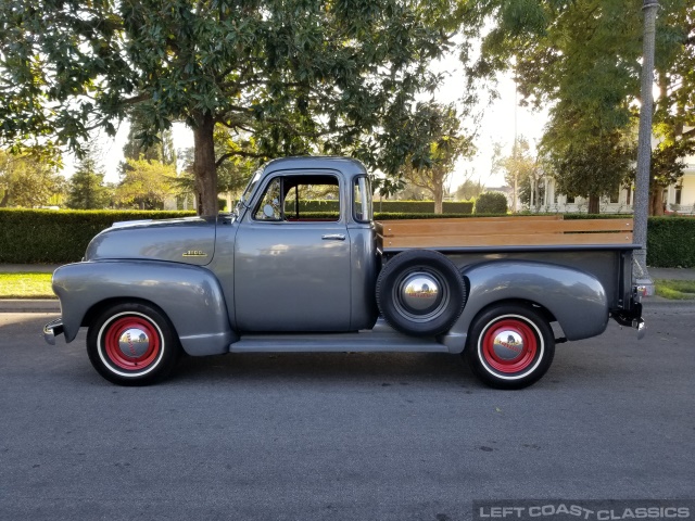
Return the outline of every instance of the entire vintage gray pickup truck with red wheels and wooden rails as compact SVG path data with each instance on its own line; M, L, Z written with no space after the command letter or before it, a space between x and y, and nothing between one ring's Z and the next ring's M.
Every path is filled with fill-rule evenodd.
M439 352L520 389L609 317L643 333L639 246L609 220L375 223L359 162L276 160L231 214L103 230L53 274L62 317L43 333L88 328L91 364L123 385L161 380L181 351Z

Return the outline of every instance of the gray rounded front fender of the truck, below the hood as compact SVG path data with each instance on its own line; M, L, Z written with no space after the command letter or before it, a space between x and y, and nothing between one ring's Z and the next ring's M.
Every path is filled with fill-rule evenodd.
M151 260L97 260L62 266L53 274L65 341L75 340L88 312L110 300L149 301L169 318L190 355L227 353L238 340L225 298L207 269Z

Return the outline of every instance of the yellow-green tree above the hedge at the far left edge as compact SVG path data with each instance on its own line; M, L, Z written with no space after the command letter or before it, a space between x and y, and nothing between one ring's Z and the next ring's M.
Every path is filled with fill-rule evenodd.
M34 207L64 190L64 178L56 171L58 158L13 154L0 150L0 207Z

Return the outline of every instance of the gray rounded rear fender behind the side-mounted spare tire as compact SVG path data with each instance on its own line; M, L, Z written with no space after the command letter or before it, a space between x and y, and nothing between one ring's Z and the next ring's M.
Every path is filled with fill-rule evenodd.
M464 313L446 334L452 351L465 345L476 315L502 301L527 301L555 316L567 340L581 340L603 333L608 325L606 290L590 274L549 263L491 260L467 266L469 292Z

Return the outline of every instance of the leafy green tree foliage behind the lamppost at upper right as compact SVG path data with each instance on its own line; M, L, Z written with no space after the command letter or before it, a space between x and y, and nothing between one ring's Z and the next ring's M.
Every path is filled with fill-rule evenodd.
M695 7L686 0L660 3L665 15L659 16L656 33L656 67L661 97L655 123L671 119L677 130L679 122L682 126L693 114ZM475 21L471 27L477 25L480 33L485 23L492 25L480 58L469 62L470 81L513 71L522 103L554 105L546 145L559 144L569 153L567 163L577 164L581 148L616 158L622 148L610 150L595 140L605 137L614 145L623 143L626 137L634 141L631 129L636 126L634 102L640 99L642 55L640 8L641 2L624 0L468 2L467 15ZM557 153L555 160L559 164ZM677 155L670 154L670 161L677 161ZM571 185L597 181L601 187L583 191L601 193L606 185L620 182L621 168L607 169L603 177L615 177L599 179L599 166L596 162L596 175L589 177L585 168L576 169L581 180ZM653 196L660 198L655 190L659 190L658 181ZM597 208L596 196L590 195L590 205Z

